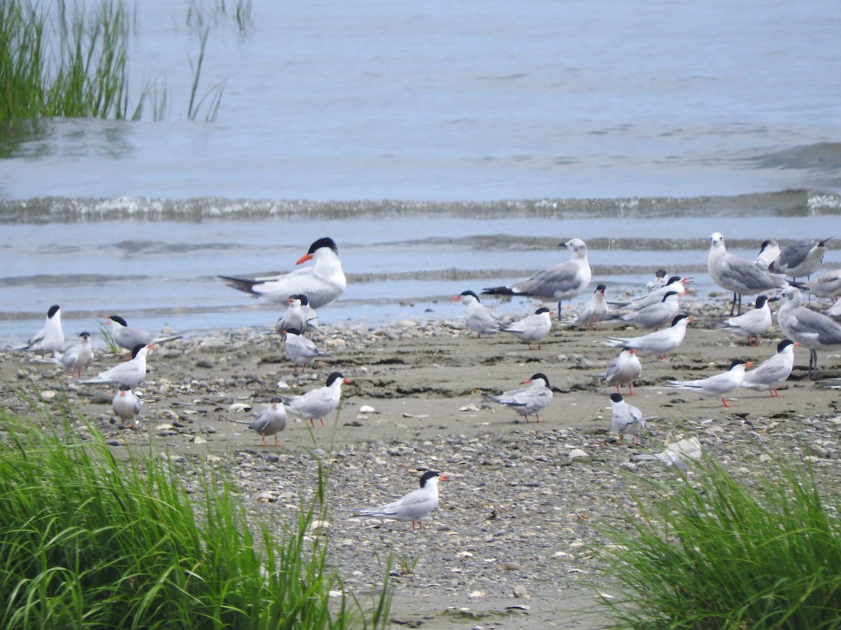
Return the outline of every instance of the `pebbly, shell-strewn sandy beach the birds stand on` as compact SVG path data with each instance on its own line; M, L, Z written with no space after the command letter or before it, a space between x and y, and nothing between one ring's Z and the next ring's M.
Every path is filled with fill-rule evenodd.
M697 299L697 298L696 298ZM136 388L144 408L140 428L114 423L114 391L82 385L54 365L3 351L3 405L45 422L19 391L38 392L39 406L57 410L66 399L91 419L114 454L130 449L173 461L204 460L226 466L242 497L273 522L294 514L299 499L315 491L315 457L330 463L333 558L346 590L373 599L392 554L395 589L392 619L408 627L605 627L597 598L595 566L587 545L599 543L597 523L635 513L635 480L674 475L646 461L670 441L697 437L706 454L735 470L764 454L808 461L817 475L838 484L838 390L807 376L808 350L796 349L796 368L780 398L738 390L731 408L715 397L663 386L726 370L734 359L759 362L775 352L775 326L759 348L715 329L723 296L703 297L715 307L689 302L696 314L685 342L663 361L643 358L637 396L627 397L647 416L642 444L619 444L609 429L609 395L600 383L617 350L603 340L615 331L555 323L542 350L499 333L476 339L463 320L407 319L382 328L325 326L316 344L332 355L303 376L293 375L278 335L265 330L224 331L201 339L161 344L149 355L147 380ZM329 311L325 311L327 315ZM841 376L838 353L820 352L821 377ZM99 352L86 375L115 365ZM295 421L280 445L263 447L246 425L250 411L276 395L294 395L324 384L332 371L352 381L326 427ZM553 403L540 423L498 404L482 392L515 388L533 374L547 375ZM373 411L362 412L362 407ZM580 449L584 456L571 458ZM410 523L350 517L353 507L373 507L413 490L421 470L446 472L441 501L412 531ZM188 476L185 484L193 483ZM594 582L594 580L596 580Z

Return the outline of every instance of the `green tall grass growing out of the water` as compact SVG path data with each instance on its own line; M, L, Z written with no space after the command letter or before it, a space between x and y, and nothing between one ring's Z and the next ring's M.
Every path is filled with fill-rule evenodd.
M0 3L0 121L128 118L130 20L121 0Z

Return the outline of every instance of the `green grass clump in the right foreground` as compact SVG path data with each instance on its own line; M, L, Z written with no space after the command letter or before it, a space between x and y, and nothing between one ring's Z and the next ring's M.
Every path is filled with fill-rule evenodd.
M711 461L696 479L651 481L642 517L606 525L595 554L620 586L618 627L841 627L838 494L799 463L738 480Z

